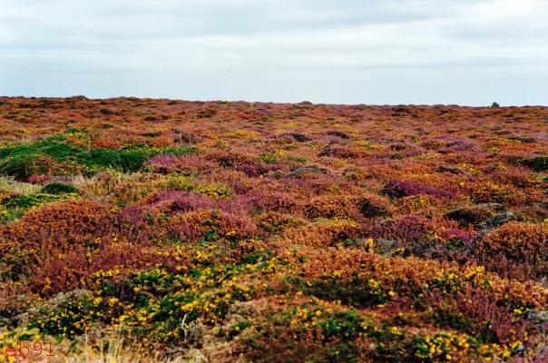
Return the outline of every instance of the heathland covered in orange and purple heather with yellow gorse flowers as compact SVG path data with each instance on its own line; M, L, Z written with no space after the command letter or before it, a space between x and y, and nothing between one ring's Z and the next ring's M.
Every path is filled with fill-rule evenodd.
M0 98L0 343L543 361L547 129L545 107Z

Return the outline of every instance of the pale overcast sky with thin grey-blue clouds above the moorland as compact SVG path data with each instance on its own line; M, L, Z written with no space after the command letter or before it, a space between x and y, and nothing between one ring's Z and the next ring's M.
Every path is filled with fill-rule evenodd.
M548 0L0 0L0 95L548 105Z

